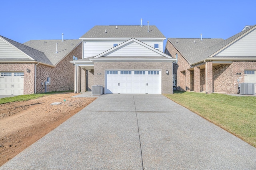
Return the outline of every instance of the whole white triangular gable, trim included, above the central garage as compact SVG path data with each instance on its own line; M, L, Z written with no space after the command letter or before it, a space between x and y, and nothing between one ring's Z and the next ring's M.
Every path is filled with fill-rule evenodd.
M142 43L135 38L132 38L124 43L113 47L104 53L97 55L94 58L99 57L166 57L172 58L149 45Z

